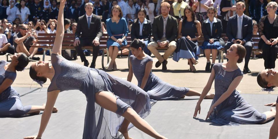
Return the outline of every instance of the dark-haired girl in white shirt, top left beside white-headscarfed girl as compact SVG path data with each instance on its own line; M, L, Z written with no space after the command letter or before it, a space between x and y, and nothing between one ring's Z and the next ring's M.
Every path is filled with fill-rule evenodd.
M25 1L20 0L18 9L17 9L17 16L19 17L21 23L28 23L28 17L30 15L30 10L25 6Z

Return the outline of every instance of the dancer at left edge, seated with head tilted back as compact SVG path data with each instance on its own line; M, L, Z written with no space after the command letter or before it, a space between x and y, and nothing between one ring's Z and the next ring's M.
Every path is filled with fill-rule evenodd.
M45 105L23 107L19 94L11 87L17 77L16 71L22 71L28 65L28 56L24 53L15 53L11 59L11 63L0 61L0 117L39 114L40 111L44 110ZM52 112L57 111L55 107L52 107Z

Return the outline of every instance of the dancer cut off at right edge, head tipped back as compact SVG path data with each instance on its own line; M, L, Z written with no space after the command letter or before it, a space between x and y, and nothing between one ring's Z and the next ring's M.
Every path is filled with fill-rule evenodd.
M257 76L258 84L264 89L273 89L278 86L278 73L275 69L265 69L259 72ZM278 110L278 98L275 103L266 104L265 106L276 106ZM270 128L269 139L277 139L278 137L278 113L276 113L274 122Z

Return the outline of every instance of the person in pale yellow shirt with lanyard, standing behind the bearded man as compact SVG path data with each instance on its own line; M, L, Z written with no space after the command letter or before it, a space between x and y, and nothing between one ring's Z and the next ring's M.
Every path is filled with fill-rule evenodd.
M184 8L188 6L188 4L183 0L178 0L173 3L173 11L175 18L178 19L178 22L183 19L184 16Z

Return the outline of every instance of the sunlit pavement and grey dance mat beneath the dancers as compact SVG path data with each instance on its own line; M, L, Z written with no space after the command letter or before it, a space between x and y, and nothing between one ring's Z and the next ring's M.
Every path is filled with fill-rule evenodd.
M92 56L88 56L87 59L91 61ZM5 57L0 57L0 60L5 60ZM50 56L47 56L45 61L49 60ZM210 75L209 72L204 71L206 64L204 57L200 57L198 60L199 63L196 65L198 71L196 73L189 71L187 60L181 59L177 63L169 58L167 71L161 71L161 67L154 67L156 61L157 59L154 58L154 74L176 86L190 87L202 92ZM73 62L83 64L80 58ZM117 58L116 62L120 70L109 73L121 78L127 78L127 58ZM101 68L101 57L98 57L96 65L96 68ZM243 66L244 63L239 64L241 69L243 69ZM261 112L269 111L270 107L266 107L263 104L274 102L278 91L261 91L261 88L256 83L257 73L264 69L263 59L251 59L249 68L252 73L244 74L244 78L237 90L257 110ZM132 83L137 84L134 76ZM46 90L49 84L50 82L47 81L43 86L44 88L37 88L39 85L32 83L29 77L29 70L25 69L25 71L17 73L17 79L12 86L21 95L23 105L42 105L46 102ZM214 84L210 92L214 93ZM263 125L240 125L237 127L219 126L205 121L204 118L209 110L211 100L203 101L201 115L198 115L197 119L193 119L197 98L186 97L176 101L158 101L153 105L151 114L145 120L169 139L268 138L269 128L273 121ZM76 90L62 92L58 96L55 106L59 109L59 112L52 114L43 138L82 138L86 109L85 96ZM0 118L0 138L18 139L23 136L35 135L39 130L40 119L41 114L22 118ZM135 127L129 131L129 134L134 139L151 138Z

